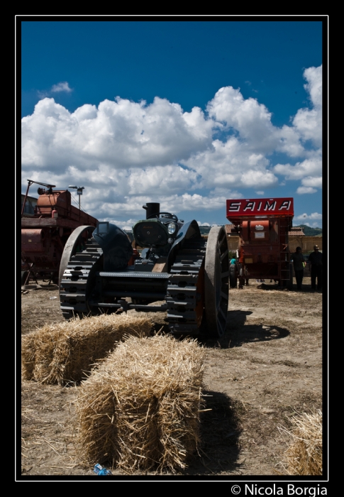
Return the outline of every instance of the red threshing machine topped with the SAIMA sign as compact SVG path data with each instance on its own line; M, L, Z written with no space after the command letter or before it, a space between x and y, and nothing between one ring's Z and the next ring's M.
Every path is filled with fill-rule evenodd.
M294 199L227 200L226 217L234 225L232 234L240 236L239 286L245 279L257 278L278 280L279 285L292 288L288 232Z

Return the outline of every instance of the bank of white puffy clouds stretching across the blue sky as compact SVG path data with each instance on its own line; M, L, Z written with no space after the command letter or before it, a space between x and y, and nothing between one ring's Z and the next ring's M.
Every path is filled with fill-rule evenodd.
M26 178L60 187L82 184L84 208L99 219L133 218L157 197L172 212L218 209L228 195L242 197L240 189L260 192L286 180L299 182L299 194L316 192L321 70L304 71L310 107L282 127L272 124L265 105L233 87L219 89L205 112L184 112L158 97L149 105L116 97L74 112L41 99L22 119L23 185ZM67 82L51 89L71 91ZM289 159L273 165L273 153Z

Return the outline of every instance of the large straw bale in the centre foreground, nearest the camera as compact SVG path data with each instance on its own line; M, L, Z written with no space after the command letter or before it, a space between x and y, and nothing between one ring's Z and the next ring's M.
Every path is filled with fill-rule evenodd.
M204 349L130 337L79 387L79 457L125 471L184 468L199 444Z

